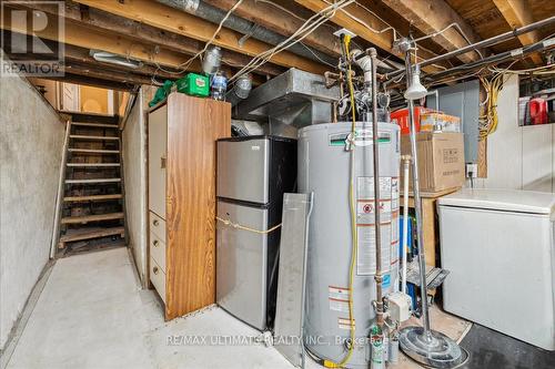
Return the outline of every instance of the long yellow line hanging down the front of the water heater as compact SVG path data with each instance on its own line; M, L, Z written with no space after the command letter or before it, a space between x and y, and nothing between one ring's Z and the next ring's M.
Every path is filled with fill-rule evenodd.
M351 55L349 51L349 45L351 44L351 37L349 34L345 34L344 37L344 43L345 43L345 53L346 53L346 60L347 60L347 83L349 83L349 93L350 93L350 99L351 99L351 112L352 112L352 119L353 123L351 125L351 175L350 175L350 184L349 184L349 198L350 198L350 207L351 207L351 233L352 233L352 238L353 238L353 252L351 255L351 266L349 270L349 322L351 327L351 344L349 345L349 351L345 355L345 357L340 361L340 362L334 362L332 360L324 360L323 365L326 368L342 368L344 367L349 360L351 360L351 357L353 356L354 351L354 342L355 342L355 321L354 321L354 314L353 314L353 280L354 280L354 268L356 265L356 255L359 252L359 235L356 233L356 213L355 213L355 207L356 203L354 199L354 140L355 140L355 134L356 134L356 105L354 102L354 88L353 88L353 79L352 79L352 73L351 73Z

